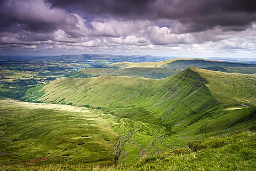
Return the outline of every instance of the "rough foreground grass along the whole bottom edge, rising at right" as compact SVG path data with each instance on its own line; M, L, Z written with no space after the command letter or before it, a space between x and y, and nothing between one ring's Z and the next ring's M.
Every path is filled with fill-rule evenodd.
M122 165L13 165L2 170L255 170L256 133L242 132L189 143L159 156L141 159L132 167Z

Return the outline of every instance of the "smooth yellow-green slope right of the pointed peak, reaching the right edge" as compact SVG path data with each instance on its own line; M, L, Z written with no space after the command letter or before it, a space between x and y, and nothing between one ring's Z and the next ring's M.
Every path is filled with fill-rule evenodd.
M256 75L225 73L193 68L204 77L215 99L226 105L255 105Z

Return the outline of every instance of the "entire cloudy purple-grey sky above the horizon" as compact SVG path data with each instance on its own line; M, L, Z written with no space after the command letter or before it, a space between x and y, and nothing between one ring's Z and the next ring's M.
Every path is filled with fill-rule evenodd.
M255 0L0 0L0 55L256 58Z

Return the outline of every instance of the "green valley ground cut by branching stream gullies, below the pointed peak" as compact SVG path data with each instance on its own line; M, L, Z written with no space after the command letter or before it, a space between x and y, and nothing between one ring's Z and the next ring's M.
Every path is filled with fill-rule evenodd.
M114 146L115 162L127 163L154 156L172 148L171 133L164 127L119 118L119 125L114 130L119 134Z

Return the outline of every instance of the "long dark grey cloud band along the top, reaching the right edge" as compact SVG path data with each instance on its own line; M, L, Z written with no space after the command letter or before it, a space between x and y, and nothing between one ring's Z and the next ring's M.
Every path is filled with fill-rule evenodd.
M247 26L256 20L255 0L47 0L51 6L75 10L86 15L121 19L171 19L187 28L202 31L215 26ZM242 27L241 27L242 28ZM235 29L236 30L236 29Z

